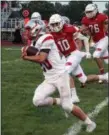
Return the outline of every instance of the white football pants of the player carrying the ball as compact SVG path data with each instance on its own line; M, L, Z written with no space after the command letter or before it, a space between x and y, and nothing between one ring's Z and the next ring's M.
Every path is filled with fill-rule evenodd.
M55 82L47 82L45 80L36 88L33 96L33 104L37 107L52 105L53 98L50 95L58 89L62 108L67 112L71 112L73 105L69 82L68 73L60 75Z

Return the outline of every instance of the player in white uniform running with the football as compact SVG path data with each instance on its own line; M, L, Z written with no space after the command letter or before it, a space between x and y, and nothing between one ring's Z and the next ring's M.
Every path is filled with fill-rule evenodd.
M36 44L34 44L37 50L36 55L27 56L26 49L22 48L22 58L40 63L45 77L45 80L35 90L33 104L36 107L61 105L67 113L71 113L86 124L87 132L92 132L96 128L95 122L78 106L72 104L69 74L65 70L65 57L59 54L53 36L46 34L46 32L42 31L42 28L43 26L33 21L28 22L26 25L26 29L29 30L29 37L31 39L37 38ZM60 98L50 96L56 89L58 89Z

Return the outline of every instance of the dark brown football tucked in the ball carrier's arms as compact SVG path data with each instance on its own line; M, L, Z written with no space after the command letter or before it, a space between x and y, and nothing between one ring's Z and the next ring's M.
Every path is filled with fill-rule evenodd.
M25 46L22 48L22 52L26 52L27 56L33 56L36 55L38 50L34 46Z

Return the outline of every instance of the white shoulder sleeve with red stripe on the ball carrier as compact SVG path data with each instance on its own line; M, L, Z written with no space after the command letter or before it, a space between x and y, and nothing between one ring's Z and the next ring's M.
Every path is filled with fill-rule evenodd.
M52 46L54 44L54 39L52 37L52 35L49 35L47 37L45 37L41 43L41 48L40 50L42 49L49 49L51 50Z

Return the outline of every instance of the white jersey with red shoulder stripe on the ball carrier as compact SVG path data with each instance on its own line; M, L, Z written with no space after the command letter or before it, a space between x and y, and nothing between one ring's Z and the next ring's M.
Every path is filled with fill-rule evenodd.
M39 52L48 53L46 60L41 63L44 71L43 74L47 81L51 82L57 79L60 74L65 72L65 57L62 57L59 54L51 34L41 36L34 46L39 50Z

